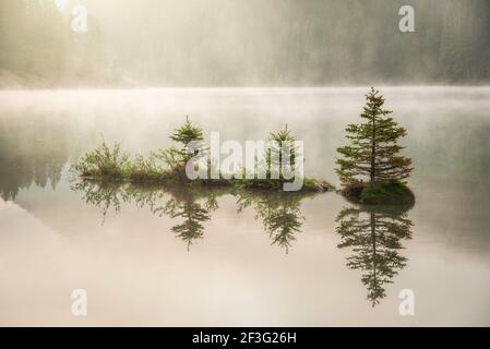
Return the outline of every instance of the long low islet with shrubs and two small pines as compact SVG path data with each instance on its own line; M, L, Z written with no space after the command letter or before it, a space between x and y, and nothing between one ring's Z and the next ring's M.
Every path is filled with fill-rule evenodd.
M250 176L247 176L244 168L229 173L218 169L218 178L205 176L205 178L190 179L187 173L189 161L193 158L205 158L208 152L208 147L204 145L203 131L201 128L192 124L189 118L187 118L186 123L170 135L170 140L176 142L178 146L152 152L146 157L142 155L131 157L121 151L119 143L110 147L103 137L101 144L96 149L85 154L72 166L71 171L83 180L165 186L214 186L239 190L283 191L284 184L291 182L291 179L287 178L283 172L284 159L277 153L277 148L274 147L267 148L265 158L262 161L255 158L255 167L262 167L265 173L263 179L259 177L250 178ZM298 166L297 148L295 147L296 137L287 129L287 124L284 130L271 133L268 141L275 142L279 147L286 145L290 153L288 166L295 171L295 168ZM302 157L300 159L302 160ZM204 165L207 174L215 170L215 165L210 160ZM196 163L195 166L200 165ZM272 174L273 169L277 169L277 176ZM318 193L335 190L335 186L325 180L307 177L301 179L300 192Z

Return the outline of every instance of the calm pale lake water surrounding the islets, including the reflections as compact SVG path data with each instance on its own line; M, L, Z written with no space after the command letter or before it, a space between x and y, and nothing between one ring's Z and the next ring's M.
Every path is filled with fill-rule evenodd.
M222 140L287 122L307 174L338 184L367 88L0 92L0 325L490 325L490 88L381 91L408 129L408 210L68 171L101 134L168 146L188 115ZM74 289L87 316L72 315Z

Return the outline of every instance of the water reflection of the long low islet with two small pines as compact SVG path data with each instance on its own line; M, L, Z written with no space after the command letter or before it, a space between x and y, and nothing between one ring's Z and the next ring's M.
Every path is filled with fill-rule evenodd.
M168 216L179 224L171 228L175 236L190 245L204 237L204 222L218 208L218 197L230 194L237 200L237 212L252 208L255 219L263 224L272 245L288 253L301 232L304 216L301 200L314 193L234 190L212 186L155 186L91 180L75 180L71 189L83 194L83 200L100 208L101 224L110 209L121 210L121 204L147 207L152 214Z

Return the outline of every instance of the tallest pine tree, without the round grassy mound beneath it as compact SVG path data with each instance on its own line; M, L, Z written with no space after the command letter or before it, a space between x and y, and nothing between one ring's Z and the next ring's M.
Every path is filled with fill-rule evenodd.
M346 129L350 145L337 149L344 158L337 159L336 170L342 184L383 183L403 181L410 174L411 159L401 156L404 148L397 142L407 134L383 109L384 98L371 87L360 115L364 123L349 124Z

